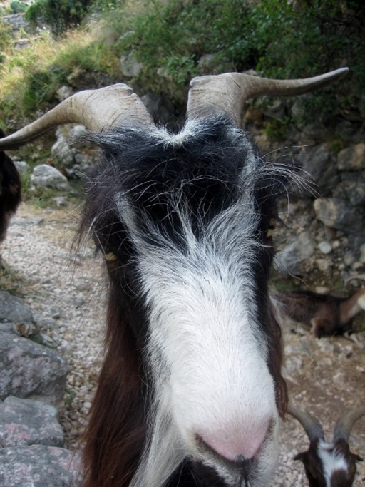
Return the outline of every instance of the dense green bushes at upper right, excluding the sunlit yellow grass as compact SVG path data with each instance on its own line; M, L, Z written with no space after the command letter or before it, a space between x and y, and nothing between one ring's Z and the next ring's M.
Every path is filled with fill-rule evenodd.
M361 107L365 85L364 6L360 0L200 0L139 1L113 11L110 29L120 36L118 54L133 52L143 71L143 89L173 101L201 72L200 58L212 54L213 70L255 69L263 76L314 76L349 63L351 75L303 98L304 118L325 118L336 105ZM359 17L360 15L360 17ZM363 104L365 102L363 101Z

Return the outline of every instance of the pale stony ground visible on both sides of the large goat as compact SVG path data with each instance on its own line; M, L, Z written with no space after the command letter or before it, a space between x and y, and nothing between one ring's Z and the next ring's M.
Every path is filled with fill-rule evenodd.
M22 205L1 244L10 272L19 274L20 292L38 327L70 365L61 424L66 447L78 448L103 358L105 294L101 260L91 242L72 247L78 210L36 210ZM331 287L331 283L328 286ZM362 317L363 318L363 317ZM319 416L331 439L336 417L365 404L364 332L351 337L314 339L297 327L284 327L284 374L292 401ZM282 449L272 486L306 486L302 464L293 461L307 448L297 421L282 429ZM365 457L365 417L354 426L351 448ZM355 487L364 485L365 466L358 463Z

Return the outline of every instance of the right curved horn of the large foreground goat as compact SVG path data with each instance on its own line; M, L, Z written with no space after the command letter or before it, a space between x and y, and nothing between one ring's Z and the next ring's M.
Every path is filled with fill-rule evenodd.
M341 79L349 68L336 69L314 78L275 80L244 73L198 76L190 83L187 118L229 115L241 123L243 103L256 96L294 96L319 90Z

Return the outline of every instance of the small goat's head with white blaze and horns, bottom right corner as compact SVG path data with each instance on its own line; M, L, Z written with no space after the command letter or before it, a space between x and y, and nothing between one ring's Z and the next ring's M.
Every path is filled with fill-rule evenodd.
M309 487L351 487L356 462L362 458L351 453L349 436L354 423L365 415L365 407L348 411L336 421L331 443L325 440L317 418L292 405L289 405L288 412L302 424L309 438L308 450L294 457L294 460L303 462Z

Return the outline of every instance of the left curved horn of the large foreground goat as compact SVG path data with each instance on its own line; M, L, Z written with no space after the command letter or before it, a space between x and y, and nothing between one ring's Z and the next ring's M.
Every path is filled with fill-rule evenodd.
M124 83L97 90L85 90L45 113L38 120L0 140L0 150L11 150L30 143L63 123L81 123L92 132L111 128L153 124L140 98Z

